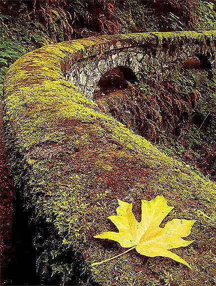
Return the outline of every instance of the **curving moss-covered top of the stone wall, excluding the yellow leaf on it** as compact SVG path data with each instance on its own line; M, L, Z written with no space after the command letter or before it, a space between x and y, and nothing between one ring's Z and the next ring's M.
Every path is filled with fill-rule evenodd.
M92 37L44 46L11 65L4 81L6 136L45 280L54 273L75 285L214 285L213 182L102 113L66 74L80 59L132 45L199 43L213 54L215 39L215 31ZM140 199L157 195L175 207L167 219L198 220L190 236L195 242L173 250L198 271L133 251L89 267L122 252L115 242L93 238L114 230L107 217L117 198L133 202L139 217Z

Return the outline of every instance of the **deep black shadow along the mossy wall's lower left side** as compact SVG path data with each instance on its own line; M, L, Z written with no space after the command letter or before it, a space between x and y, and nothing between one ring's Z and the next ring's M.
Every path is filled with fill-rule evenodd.
M81 254L72 249L62 250L62 238L59 237L52 223L41 217L32 217L33 209L25 210L22 189L16 190L16 226L13 245L15 260L11 265L11 280L5 286L74 286L80 281L89 281L92 286L99 286L92 280L88 269L84 271L85 262ZM52 258L50 253L56 250L59 254ZM39 263L37 258L40 256ZM62 282L62 273L52 275L52 265L72 267L70 279ZM81 271L82 270L82 271Z

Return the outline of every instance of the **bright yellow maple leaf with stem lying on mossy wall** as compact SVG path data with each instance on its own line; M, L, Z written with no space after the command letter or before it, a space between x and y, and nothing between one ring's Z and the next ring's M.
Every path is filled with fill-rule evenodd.
M117 216L110 216L108 219L116 225L119 232L104 232L95 236L95 238L113 240L124 248L130 248L124 253L135 248L142 255L168 257L191 269L184 259L169 250L185 247L193 242L193 240L185 241L182 237L190 235L191 228L196 221L173 219L166 223L164 228L160 228L159 225L174 207L168 206L167 200L163 196L157 196L151 201L141 200L141 202L142 216L140 223L132 213L132 204L118 200ZM111 259L93 263L92 266L102 264Z

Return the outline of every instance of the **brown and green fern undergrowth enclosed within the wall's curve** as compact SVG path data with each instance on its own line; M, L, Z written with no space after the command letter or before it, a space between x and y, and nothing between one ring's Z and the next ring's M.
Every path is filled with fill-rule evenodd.
M131 84L114 70L112 86L108 75L101 80L97 102L158 149L214 180L216 70L210 78L206 70L182 69L160 83L149 71L142 75L143 81Z

